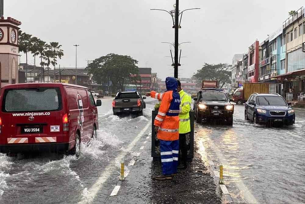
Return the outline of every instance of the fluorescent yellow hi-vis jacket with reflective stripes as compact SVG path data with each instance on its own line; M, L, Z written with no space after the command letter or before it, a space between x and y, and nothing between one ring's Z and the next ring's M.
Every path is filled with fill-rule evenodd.
M179 113L179 133L184 134L191 132L191 121L189 111L191 110L191 97L183 90L180 94L180 113Z

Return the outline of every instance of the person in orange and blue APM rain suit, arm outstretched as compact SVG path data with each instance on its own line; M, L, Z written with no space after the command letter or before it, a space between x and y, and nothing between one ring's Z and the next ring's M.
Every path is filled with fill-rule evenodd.
M174 77L167 77L165 84L167 91L164 93L155 91L145 93L146 96L161 100L159 112L154 121L155 131L160 140L162 163L162 174L155 177L157 180L172 179L172 176L177 173L178 166L180 112L178 82Z

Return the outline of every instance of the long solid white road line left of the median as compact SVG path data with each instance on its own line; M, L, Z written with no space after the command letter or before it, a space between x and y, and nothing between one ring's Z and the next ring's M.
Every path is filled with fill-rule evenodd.
M110 177L111 173L113 172L113 167L116 165L115 161L122 161L124 157L127 155L127 153L131 152L131 150L134 148L134 146L137 144L139 139L143 136L143 134L146 132L150 125L150 122L147 123L147 125L142 129L142 131L135 137L135 139L128 145L128 147L125 149L126 151L121 152L117 158L113 159L113 162L108 164L108 166L105 168L105 170L102 172L100 177L97 179L97 181L91 186L90 189L88 189L89 195L86 197L86 199L78 202L79 204L88 204L91 203L96 196L96 194L99 192L99 189L103 187L103 184L107 181L107 179ZM140 153L138 153L140 156Z

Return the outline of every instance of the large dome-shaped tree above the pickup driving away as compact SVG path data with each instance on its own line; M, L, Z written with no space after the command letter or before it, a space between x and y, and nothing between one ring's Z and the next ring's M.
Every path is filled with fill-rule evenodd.
M138 79L138 61L127 55L110 53L106 56L95 59L88 65L88 74L92 74L93 80L97 83L109 80L113 83L113 90L123 89L124 78L131 81Z

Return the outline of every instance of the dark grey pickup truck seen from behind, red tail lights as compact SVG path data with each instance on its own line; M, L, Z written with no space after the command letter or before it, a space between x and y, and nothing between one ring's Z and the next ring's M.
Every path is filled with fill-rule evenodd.
M136 113L138 116L143 115L143 109L146 104L142 95L138 91L134 92L118 92L112 101L113 115L122 113Z

